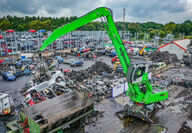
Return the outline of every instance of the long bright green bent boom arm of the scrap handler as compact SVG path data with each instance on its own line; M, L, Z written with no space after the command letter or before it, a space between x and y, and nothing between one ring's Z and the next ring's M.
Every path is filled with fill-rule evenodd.
M86 15L78 18L77 20L66 24L62 26L61 28L56 29L49 37L46 39L43 43L43 46L40 48L40 50L45 49L48 45L53 43L57 38L61 37L62 35L71 32L83 25L88 24L89 22L105 17L106 20L105 28L107 30L107 33L109 37L111 38L113 45L115 47L115 50L117 52L117 55L119 57L119 60L121 62L121 65L123 67L125 75L127 74L128 67L130 65L130 59L127 55L126 49L123 45L123 42L121 40L121 37L119 36L119 33L116 29L116 26L113 21L112 17L112 11L109 8L106 7L100 7L97 8Z

